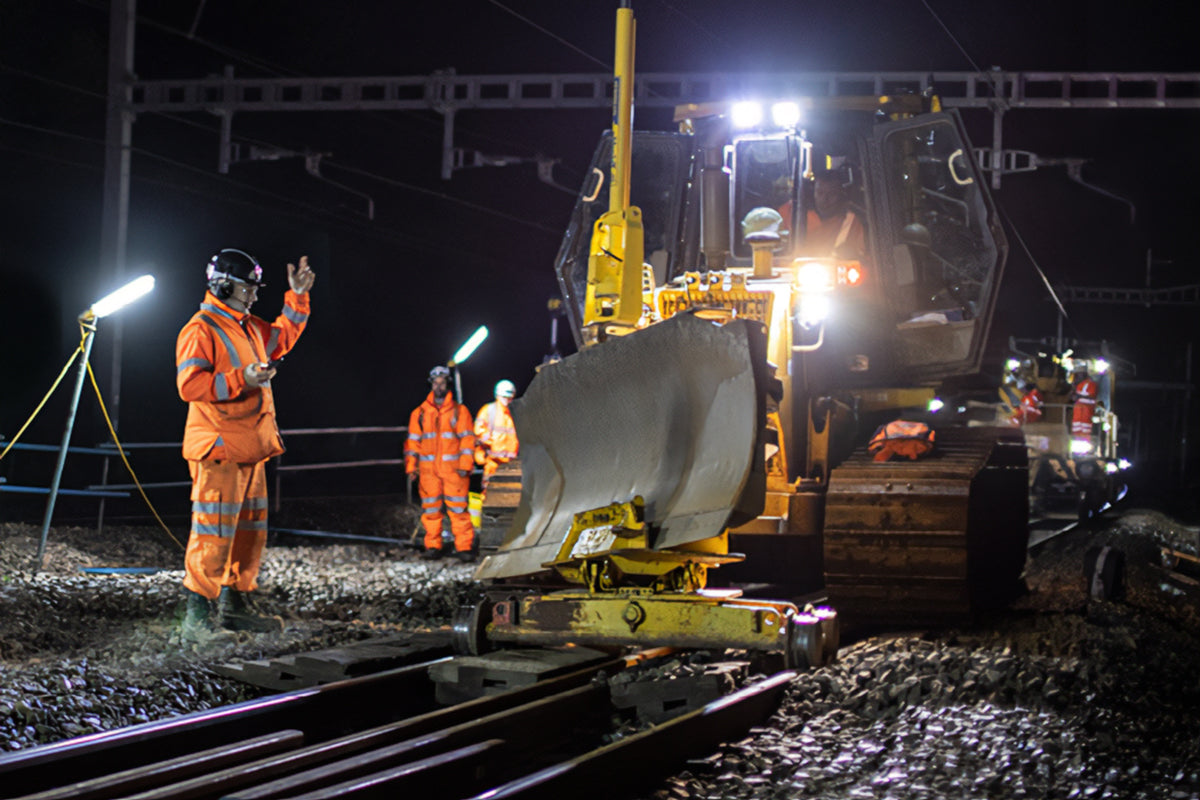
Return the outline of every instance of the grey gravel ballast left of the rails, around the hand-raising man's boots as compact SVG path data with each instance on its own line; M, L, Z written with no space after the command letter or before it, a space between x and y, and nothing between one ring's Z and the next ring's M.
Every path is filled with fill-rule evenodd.
M272 546L259 602L283 616L283 632L197 648L179 639L182 570L79 572L175 565L182 558L163 531L114 529L101 542L86 529L52 529L48 539L35 576L37 528L0 525L4 750L260 697L210 667L446 625L475 595L469 566L419 561L402 547Z

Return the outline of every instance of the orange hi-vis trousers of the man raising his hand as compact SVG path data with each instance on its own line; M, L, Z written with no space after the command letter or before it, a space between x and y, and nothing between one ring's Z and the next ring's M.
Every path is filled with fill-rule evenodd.
M253 591L266 546L266 462L190 461L192 533L184 585L215 600L222 587Z

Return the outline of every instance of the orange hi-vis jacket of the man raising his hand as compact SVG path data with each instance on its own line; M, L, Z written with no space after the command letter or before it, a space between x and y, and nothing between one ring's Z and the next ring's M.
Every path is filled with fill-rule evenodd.
M287 291L274 323L204 295L175 342L175 385L187 402L184 458L254 464L283 452L271 387L247 386L244 369L290 350L308 312L308 293Z

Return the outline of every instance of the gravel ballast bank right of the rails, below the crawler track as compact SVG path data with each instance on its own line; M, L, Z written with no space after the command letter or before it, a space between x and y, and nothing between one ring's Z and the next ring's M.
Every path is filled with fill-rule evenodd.
M1154 513L1044 545L1030 593L978 627L877 636L800 674L770 722L654 800L1198 798L1196 594L1157 569L1195 552ZM1129 559L1121 602L1090 601L1084 553Z

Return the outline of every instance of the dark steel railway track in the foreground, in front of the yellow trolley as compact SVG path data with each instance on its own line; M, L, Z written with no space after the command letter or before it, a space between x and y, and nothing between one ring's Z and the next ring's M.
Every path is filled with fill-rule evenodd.
M0 781L25 800L614 796L744 735L793 674L608 742L610 688L596 679L650 657L448 708L433 702L437 660L0 756Z

